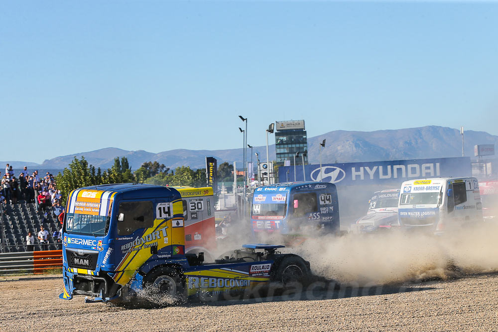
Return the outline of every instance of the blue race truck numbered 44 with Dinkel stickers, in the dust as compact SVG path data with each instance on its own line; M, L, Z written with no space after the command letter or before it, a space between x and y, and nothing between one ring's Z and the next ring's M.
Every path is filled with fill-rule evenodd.
M256 188L252 196L252 231L294 234L319 230L338 233L336 186L326 182L286 182Z

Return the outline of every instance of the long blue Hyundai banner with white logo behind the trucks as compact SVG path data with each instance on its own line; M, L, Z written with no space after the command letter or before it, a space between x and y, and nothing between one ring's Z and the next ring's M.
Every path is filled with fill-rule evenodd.
M279 182L303 181L303 168L280 166ZM340 186L400 184L416 178L472 176L470 157L369 161L343 164L305 165L306 180L330 182Z

